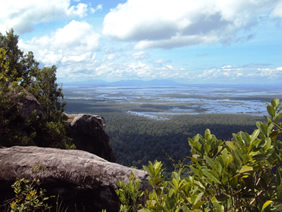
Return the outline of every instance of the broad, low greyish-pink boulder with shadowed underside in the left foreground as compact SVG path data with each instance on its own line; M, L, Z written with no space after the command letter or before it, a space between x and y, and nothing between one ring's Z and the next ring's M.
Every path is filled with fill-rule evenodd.
M36 166L42 168L34 172ZM50 194L60 195L63 204L69 205L68 211L75 211L75 208L78 211L118 211L119 200L114 190L118 180L128 181L131 172L141 181L142 190L150 188L146 172L108 162L85 151L1 148L0 200L9 196L16 179L38 178Z

